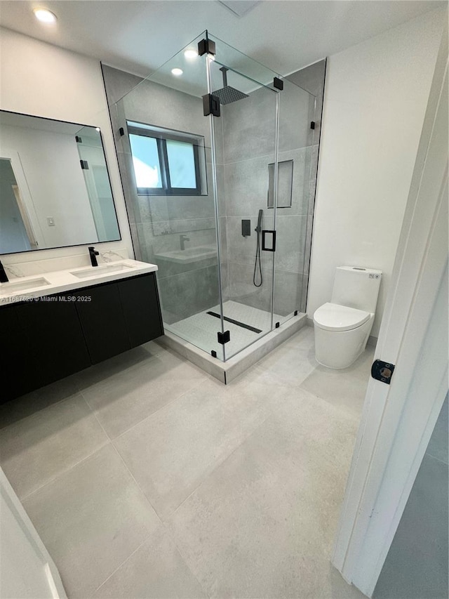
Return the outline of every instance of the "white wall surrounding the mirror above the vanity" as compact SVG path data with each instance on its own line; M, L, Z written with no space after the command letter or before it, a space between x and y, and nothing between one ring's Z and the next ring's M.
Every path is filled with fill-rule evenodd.
M100 127L122 237L121 242L100 247L106 251L126 246L133 257L100 62L0 29L0 81L2 110ZM12 254L2 260L13 264L82 252L82 246L72 246Z

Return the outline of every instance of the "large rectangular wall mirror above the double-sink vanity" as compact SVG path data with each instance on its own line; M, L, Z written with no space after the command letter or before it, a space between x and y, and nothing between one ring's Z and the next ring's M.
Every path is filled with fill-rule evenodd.
M119 239L100 129L0 110L0 254Z

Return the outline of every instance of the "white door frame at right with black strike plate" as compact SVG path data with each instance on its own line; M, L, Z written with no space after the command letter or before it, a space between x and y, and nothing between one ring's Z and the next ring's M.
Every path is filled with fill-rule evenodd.
M333 564L369 597L448 390L448 37L443 33Z

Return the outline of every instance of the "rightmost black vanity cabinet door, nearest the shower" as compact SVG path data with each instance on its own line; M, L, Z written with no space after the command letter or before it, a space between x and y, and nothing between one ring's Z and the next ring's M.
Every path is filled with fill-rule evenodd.
M154 272L121 280L119 291L131 347L163 335Z

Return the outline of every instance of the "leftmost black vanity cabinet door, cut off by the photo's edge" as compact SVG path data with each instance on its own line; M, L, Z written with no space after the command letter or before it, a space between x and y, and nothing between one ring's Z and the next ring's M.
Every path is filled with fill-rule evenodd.
M18 305L0 308L0 403L34 389L38 369L27 357L29 348L20 326Z

